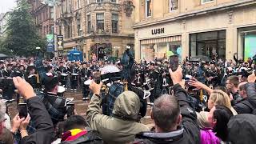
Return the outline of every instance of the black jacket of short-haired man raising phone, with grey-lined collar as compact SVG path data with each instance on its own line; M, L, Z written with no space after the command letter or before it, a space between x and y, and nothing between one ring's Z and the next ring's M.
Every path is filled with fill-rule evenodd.
M176 84L174 86L174 96L178 99L181 108L182 126L178 130L169 133L144 132L137 134L134 143L200 143L197 115L190 105L186 90Z

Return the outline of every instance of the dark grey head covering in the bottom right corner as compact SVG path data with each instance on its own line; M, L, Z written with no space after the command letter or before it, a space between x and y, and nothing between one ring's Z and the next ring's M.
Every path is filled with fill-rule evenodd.
M256 142L256 115L238 114L230 118L228 126L228 142L243 144Z

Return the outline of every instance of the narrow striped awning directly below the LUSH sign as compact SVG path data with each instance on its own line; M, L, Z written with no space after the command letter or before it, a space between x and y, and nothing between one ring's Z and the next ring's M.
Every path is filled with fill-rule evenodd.
M164 38L151 38L151 39L144 39L141 41L142 45L152 44L152 43L162 43L162 42L179 42L182 41L182 36L171 36L171 37L164 37Z

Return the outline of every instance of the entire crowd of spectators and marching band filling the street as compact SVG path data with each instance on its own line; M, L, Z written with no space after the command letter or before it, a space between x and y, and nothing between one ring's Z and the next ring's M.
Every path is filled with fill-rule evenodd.
M2 99L16 93L28 114L8 120L1 102L0 142L254 143L254 62L187 58L173 71L164 59L135 62L129 50L117 62L6 59L0 62ZM104 66L120 71L102 74ZM82 90L86 118L70 108L59 86ZM153 127L141 122L148 109Z

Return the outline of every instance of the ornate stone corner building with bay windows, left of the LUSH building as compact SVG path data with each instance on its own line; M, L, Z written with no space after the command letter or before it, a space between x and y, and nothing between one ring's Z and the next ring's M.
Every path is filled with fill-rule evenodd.
M57 8L57 32L64 36L65 55L81 50L89 60L119 58L134 47L134 6L131 0L63 0Z

